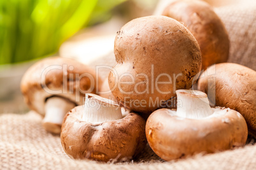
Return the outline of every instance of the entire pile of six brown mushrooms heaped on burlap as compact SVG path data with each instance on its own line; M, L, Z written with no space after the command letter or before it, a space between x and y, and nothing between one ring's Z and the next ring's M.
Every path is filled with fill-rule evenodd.
M256 136L256 72L224 63L229 38L207 3L174 1L162 16L128 22L114 52L117 64L105 81L87 65L59 57L36 63L22 79L27 105L43 115L46 131L60 133L69 157L129 160L148 142L173 160L240 147L248 133ZM155 89L158 75L178 76ZM160 105L170 99L174 105Z

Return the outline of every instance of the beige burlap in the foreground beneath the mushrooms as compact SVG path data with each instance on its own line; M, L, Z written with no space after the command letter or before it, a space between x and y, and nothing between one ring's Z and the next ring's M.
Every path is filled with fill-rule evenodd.
M41 116L0 114L0 169L256 169L256 145L164 162L146 146L131 162L101 163L70 159L60 137L47 133Z

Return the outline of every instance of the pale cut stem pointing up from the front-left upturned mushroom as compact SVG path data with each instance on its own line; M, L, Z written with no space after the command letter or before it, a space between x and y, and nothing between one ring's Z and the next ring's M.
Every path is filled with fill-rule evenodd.
M82 121L101 123L122 119L121 107L115 101L86 94Z

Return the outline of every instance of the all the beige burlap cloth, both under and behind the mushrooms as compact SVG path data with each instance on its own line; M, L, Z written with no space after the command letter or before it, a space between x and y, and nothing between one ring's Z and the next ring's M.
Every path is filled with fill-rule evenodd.
M224 6L216 11L231 39L229 62L256 70L255 4ZM245 147L172 162L157 157L147 145L131 162L106 164L70 159L59 136L46 133L41 117L34 112L0 114L0 169L256 169L256 145L252 145L253 139L249 141Z

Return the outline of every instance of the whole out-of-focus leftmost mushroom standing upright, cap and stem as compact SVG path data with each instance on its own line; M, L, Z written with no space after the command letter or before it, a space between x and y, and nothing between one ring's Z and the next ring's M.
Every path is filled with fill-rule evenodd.
M101 83L101 80L98 80ZM25 102L45 116L43 127L60 133L64 115L83 103L85 93L96 93L95 71L69 58L46 58L25 72L21 91Z

